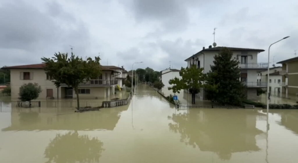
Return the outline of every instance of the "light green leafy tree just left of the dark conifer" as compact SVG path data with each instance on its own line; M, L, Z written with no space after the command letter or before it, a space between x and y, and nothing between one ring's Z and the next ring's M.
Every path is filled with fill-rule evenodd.
M195 104L195 94L200 92L200 88L204 86L203 82L205 75L203 73L203 68L196 68L195 65L192 65L190 68L181 67L179 75L181 79L175 77L169 81L169 84L173 84L172 87L169 87L169 90L173 90L174 93L180 93L181 89L187 89L191 93L191 102Z

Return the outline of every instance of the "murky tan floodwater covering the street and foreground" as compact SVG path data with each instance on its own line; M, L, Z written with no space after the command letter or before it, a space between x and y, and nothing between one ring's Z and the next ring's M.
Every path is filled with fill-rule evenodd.
M100 111L1 109L1 163L298 160L298 110L176 110L144 85L130 105Z

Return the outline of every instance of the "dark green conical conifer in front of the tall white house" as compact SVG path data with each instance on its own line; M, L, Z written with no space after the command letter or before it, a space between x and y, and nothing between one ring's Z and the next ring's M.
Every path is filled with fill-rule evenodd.
M207 99L222 105L240 105L244 99L245 87L240 79L239 61L232 58L233 53L228 48L223 48L214 56L214 65L207 74Z

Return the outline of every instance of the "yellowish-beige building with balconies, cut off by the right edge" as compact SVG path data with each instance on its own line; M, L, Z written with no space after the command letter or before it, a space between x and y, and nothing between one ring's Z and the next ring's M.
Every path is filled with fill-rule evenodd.
M277 62L282 64L282 92L286 98L298 97L298 57Z

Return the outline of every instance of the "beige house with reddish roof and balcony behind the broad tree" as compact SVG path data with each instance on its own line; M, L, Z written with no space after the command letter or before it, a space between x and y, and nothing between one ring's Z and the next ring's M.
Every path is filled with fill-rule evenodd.
M19 88L26 83L38 83L42 92L38 99L63 99L76 98L75 91L62 84L56 88L51 77L44 71L45 64L30 64L21 66L4 67L10 69L11 98L18 99ZM102 75L91 79L79 86L80 99L111 99L117 85L116 76L119 72L102 66Z

